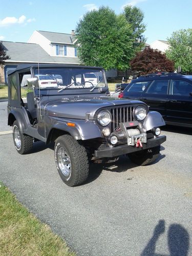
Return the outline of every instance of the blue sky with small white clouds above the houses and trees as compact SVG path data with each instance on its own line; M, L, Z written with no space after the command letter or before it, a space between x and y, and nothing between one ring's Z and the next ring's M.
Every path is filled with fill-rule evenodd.
M0 0L0 40L27 42L34 30L71 33L87 11L104 5L118 14L127 4L144 12L148 43L192 27L191 0Z

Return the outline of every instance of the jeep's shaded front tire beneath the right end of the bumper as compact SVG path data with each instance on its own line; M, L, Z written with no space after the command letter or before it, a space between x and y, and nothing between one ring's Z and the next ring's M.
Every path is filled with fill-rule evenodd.
M160 156L160 146L150 148L149 150L134 152L127 156L137 165L148 165L154 163Z

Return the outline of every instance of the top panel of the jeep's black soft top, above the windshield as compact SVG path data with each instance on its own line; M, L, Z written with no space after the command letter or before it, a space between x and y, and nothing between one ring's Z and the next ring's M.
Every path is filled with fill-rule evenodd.
M88 69L103 69L102 67L91 67L73 64L22 64L18 65L15 70L8 71L8 75L11 75L17 71L25 70L30 71L31 68L88 68Z

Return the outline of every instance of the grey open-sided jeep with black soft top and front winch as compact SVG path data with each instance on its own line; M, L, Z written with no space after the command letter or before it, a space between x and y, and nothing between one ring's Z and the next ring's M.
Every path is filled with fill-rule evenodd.
M20 87L28 86L27 103ZM33 142L55 143L55 163L68 186L83 183L89 161L127 155L138 165L156 161L165 125L158 112L136 100L113 98L102 68L18 66L8 74L8 125L19 154Z

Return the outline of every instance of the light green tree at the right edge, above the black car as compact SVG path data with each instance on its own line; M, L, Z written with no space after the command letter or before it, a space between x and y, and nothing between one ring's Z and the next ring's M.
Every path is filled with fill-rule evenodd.
M175 61L175 68L181 67L182 72L192 73L192 29L173 32L168 43L166 56Z

